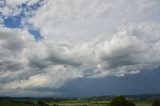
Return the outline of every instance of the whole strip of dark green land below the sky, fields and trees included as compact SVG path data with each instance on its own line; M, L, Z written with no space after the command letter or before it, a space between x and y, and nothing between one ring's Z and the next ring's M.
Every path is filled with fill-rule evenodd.
M0 97L0 106L160 106L159 96L99 96L90 98Z

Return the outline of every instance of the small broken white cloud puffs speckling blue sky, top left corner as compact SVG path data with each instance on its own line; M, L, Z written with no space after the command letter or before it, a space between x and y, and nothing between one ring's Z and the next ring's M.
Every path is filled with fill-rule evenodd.
M43 4L40 0L4 0L0 1L0 13L1 16L9 17L9 16L21 16L22 12L27 15L33 15L35 10L32 9L33 7L29 7L39 3L40 5ZM23 7L22 5L26 4L28 7ZM38 8L34 6L34 8ZM32 10L31 10L32 9Z

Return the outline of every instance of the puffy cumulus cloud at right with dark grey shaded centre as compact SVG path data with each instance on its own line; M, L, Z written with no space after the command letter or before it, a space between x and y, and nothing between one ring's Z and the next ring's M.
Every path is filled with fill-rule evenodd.
M119 73L121 76L125 73L132 74L134 71L139 73L139 70L158 67L157 45L160 37L158 27L159 23L130 25L113 34L109 41L99 43L97 54L102 63L101 67L106 70L115 68L117 76Z

